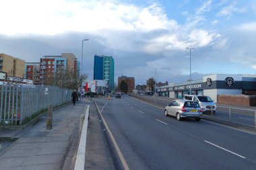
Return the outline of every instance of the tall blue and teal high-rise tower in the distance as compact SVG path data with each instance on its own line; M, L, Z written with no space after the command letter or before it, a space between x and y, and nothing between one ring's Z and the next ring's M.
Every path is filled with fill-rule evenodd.
M108 82L108 90L115 89L115 62L113 56L94 56L94 80Z

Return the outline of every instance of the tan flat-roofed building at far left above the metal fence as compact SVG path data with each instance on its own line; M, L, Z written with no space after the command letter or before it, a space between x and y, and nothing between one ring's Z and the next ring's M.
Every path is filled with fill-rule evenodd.
M25 61L7 54L0 54L0 71L7 76L24 78Z

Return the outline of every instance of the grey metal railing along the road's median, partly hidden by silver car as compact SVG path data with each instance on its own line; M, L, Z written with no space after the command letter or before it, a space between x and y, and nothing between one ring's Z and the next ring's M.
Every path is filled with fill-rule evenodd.
M164 97L149 97L145 95L131 95L135 98L141 99L143 101L148 101L154 105L158 105L164 108L173 99ZM216 113L208 112L205 114L207 118L214 118L217 120L223 120L225 122L232 122L235 124L241 124L243 126L249 126L251 128L256 128L256 110L248 108L238 108L232 106L222 106L217 105Z

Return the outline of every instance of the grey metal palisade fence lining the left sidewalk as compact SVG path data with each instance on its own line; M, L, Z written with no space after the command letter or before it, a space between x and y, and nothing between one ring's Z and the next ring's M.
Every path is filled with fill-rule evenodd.
M40 85L0 85L0 125L22 125L46 111L71 101L72 91Z

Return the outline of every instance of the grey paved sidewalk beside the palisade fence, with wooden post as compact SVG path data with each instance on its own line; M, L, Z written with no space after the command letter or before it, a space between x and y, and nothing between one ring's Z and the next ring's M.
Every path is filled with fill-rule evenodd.
M72 147L72 143L77 140L79 117L84 114L87 104L93 103L77 101L75 105L69 104L54 111L52 130L46 130L46 116L24 130L1 129L2 138L20 138L0 153L0 170L62 169L69 150L76 148Z

